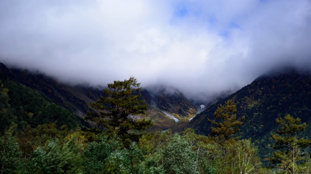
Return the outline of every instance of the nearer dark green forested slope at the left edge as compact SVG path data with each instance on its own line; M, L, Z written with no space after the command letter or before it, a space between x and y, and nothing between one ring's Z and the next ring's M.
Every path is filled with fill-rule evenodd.
M72 113L63 106L55 103L43 93L10 80L1 65L0 70L0 132L12 123L16 123L19 130L28 126L56 123L59 128L67 125L69 129L89 125L80 116ZM3 71L4 70L4 71Z

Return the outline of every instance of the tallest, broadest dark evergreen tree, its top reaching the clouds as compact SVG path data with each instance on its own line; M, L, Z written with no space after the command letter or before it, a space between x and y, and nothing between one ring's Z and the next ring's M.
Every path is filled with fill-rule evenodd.
M104 89L105 96L91 103L97 112L88 112L88 118L116 132L126 146L131 140L138 141L138 134L134 131L144 131L151 126L151 120L136 119L135 115L145 114L147 104L139 100L140 83L130 77L124 81L114 81Z

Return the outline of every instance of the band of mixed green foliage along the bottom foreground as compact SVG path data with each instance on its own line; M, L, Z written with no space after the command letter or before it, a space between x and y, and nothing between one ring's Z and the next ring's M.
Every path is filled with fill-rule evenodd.
M20 132L21 133L21 132ZM257 148L249 140L225 146L193 130L183 136L171 131L150 132L124 148L118 137L97 134L95 139L84 131L57 130L55 124L38 126L25 132L35 148L21 158L18 144L10 144L15 162L12 173L49 174L224 174L263 173ZM4 137L4 136L3 136ZM3 140L1 137L1 140ZM11 136L12 137L12 136ZM23 137L23 136L22 136ZM42 139L42 140L40 140ZM19 140L20 141L20 140ZM2 141L0 141L2 142ZM12 141L12 142L15 142ZM22 146L25 147L25 146ZM13 155L12 155L13 154ZM1 157L6 159L5 157ZM23 161L23 162L20 162ZM11 164L12 160L10 162ZM21 165L24 164L24 165ZM307 168L305 165L304 168ZM268 171L265 171L268 173Z

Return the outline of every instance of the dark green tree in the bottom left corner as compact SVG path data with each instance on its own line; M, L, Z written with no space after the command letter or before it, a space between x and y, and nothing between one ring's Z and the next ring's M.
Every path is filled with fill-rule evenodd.
M0 137L0 173L1 174L15 174L17 169L21 166L21 152L19 145L13 136L17 125L12 124Z

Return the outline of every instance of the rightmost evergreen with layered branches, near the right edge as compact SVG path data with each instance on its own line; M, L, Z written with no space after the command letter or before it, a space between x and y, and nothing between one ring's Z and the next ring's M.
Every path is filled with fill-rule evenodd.
M266 160L270 160L276 164L277 168L285 170L286 173L297 173L297 163L302 163L304 160L301 149L311 145L311 140L298 139L297 136L299 131L305 131L306 123L299 124L300 118L293 118L290 115L276 118L276 123L281 127L276 130L276 134L271 135L271 139L276 141L272 148L278 150Z

